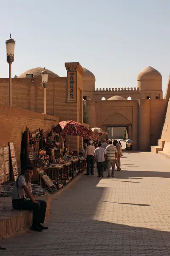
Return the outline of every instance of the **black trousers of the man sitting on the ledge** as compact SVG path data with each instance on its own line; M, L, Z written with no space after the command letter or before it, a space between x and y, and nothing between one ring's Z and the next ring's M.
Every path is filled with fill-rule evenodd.
M35 226L38 226L40 223L44 223L47 203L43 200L37 200L37 202L40 202L40 204L33 203L28 200L23 201L21 199L20 200L16 199L12 201L12 207L15 210L23 210L23 211L32 210L33 211L32 224Z

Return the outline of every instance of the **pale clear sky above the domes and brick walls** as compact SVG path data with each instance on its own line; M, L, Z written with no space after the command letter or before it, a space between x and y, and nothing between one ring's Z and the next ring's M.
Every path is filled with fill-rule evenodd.
M46 67L66 76L79 62L96 88L137 87L152 66L170 75L170 0L8 0L0 3L0 77L8 77L5 41L16 41L12 76Z

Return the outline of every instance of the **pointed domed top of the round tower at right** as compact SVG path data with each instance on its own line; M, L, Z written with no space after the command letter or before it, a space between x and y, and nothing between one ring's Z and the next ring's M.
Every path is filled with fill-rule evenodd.
M162 76L158 70L149 66L138 74L137 80L162 80Z

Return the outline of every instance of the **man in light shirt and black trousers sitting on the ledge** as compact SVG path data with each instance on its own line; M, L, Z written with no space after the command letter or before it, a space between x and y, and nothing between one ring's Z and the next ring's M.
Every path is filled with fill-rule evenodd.
M12 190L12 206L15 210L33 210L31 230L42 231L48 229L40 223L44 223L47 204L45 201L35 201L31 189L31 177L34 174L34 166L26 166L24 175L18 176ZM26 195L30 201L26 200Z

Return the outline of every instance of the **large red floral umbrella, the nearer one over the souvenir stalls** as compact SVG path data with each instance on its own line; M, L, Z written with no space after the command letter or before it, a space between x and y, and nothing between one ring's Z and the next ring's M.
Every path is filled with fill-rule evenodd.
M54 128L54 131L66 135L81 136L86 139L93 136L92 131L90 131L84 125L72 120L59 122L59 124Z

